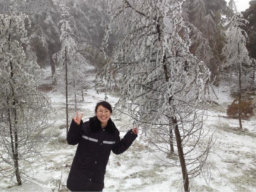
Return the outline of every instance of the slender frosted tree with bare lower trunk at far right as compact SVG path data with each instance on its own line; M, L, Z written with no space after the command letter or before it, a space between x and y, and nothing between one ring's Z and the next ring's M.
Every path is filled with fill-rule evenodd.
M238 77L238 119L239 126L242 129L241 81L246 77L248 69L252 63L252 58L249 56L246 48L248 35L243 29L248 21L243 18L241 13L237 13L237 8L233 0L230 0L228 4L230 8L235 11L235 14L233 14L230 20L230 29L228 30L226 37L227 44L224 46L222 52L225 57L222 67L228 70L228 73L230 74L230 82L232 82L232 78Z

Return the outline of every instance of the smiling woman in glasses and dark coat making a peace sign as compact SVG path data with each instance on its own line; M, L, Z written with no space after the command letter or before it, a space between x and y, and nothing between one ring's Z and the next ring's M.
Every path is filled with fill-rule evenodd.
M97 103L95 114L83 123L83 114L78 117L76 111L68 130L68 144L78 144L67 180L71 191L102 191L111 150L117 155L123 153L138 134L135 127L120 140L119 131L110 118L112 107L108 102Z

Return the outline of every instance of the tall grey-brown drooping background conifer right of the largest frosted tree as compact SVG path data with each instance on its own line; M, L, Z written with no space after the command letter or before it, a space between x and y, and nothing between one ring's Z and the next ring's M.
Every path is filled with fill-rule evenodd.
M226 2L225 0L186 0L182 7L183 12L185 12L183 13L185 21L198 28L209 43L213 57L209 63L203 61L214 77L219 74L220 61L222 60L220 55L225 43L224 24L226 20L223 16L227 17L228 15ZM192 44L194 44L193 39ZM196 47L194 46L194 48Z

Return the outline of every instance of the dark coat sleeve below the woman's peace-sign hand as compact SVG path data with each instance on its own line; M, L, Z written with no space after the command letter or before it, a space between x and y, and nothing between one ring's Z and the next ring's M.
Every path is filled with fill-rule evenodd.
M79 137L79 132L82 127L83 121L81 119L80 125L76 124L74 119L72 119L69 130L68 130L68 135L66 136L66 140L68 144L70 145L76 145L78 144L78 137Z

